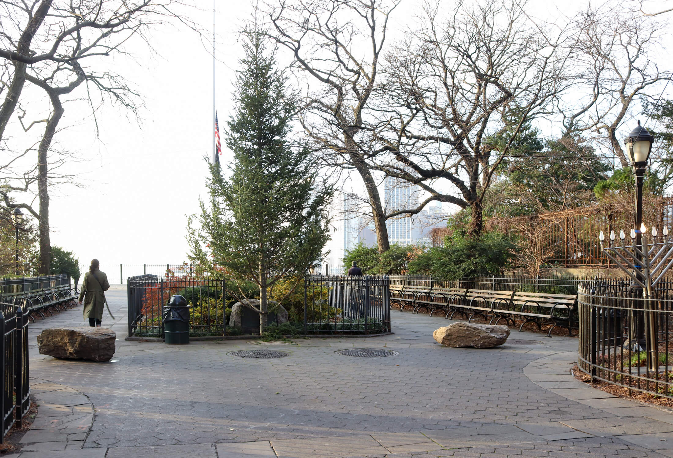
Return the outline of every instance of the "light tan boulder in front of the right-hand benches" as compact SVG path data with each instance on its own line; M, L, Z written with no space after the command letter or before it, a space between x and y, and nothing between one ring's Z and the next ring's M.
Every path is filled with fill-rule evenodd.
M493 348L507 341L509 327L457 321L440 327L432 336L447 347Z

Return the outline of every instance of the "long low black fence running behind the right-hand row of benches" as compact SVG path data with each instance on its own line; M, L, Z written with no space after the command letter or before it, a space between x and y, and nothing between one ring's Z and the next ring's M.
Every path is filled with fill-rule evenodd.
M472 290L546 292L577 294L577 285L596 277L528 277L526 275L493 275L460 280L439 280L427 275L390 275L390 284L405 286L434 286L435 288L470 288Z

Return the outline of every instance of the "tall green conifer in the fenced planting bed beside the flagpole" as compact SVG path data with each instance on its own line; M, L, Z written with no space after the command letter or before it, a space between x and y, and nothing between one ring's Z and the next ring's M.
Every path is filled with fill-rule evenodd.
M279 280L303 277L320 258L333 190L319 178L306 145L291 140L298 99L264 46L264 34L253 29L244 37L235 114L225 129L232 174L225 178L211 164L209 205L201 201L200 229L190 219L188 240L192 259L205 265L210 257L242 296L247 282L258 286L262 333L269 290Z

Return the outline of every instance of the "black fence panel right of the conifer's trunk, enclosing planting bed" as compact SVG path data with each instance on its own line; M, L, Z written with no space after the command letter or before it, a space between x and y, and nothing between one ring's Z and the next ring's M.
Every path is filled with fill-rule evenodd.
M387 276L306 275L304 333L390 332Z

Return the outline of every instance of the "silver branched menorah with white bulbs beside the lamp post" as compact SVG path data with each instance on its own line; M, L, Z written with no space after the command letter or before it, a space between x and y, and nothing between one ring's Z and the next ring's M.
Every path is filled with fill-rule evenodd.
M624 230L619 232L620 244L604 247L605 236L600 232L600 249L612 262L622 269L643 291L643 318L645 333L645 350L647 352L647 371L659 370L658 339L656 330L656 300L653 299L653 288L664 278L673 266L673 240L668 238L668 226L664 226L661 238L656 227L652 228L652 242L649 243L645 224L640 226L641 243L636 241L637 231L631 229L631 244L626 242ZM610 240L615 242L614 230L610 232ZM633 317L632 317L633 318ZM633 325L631 326L633 329ZM640 352L643 348L635 335L629 335L624 348Z

